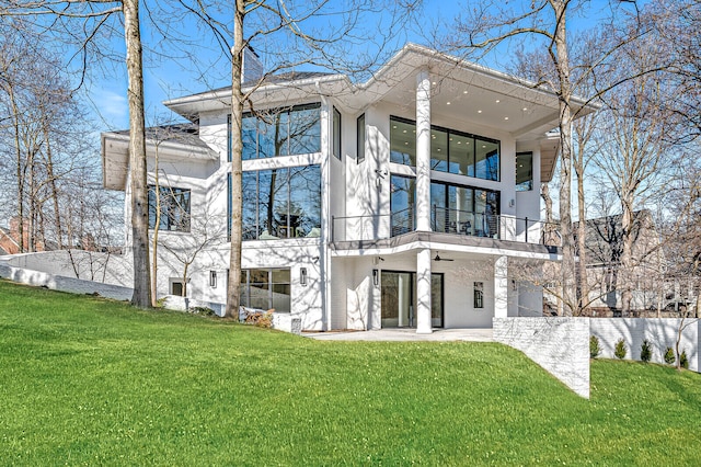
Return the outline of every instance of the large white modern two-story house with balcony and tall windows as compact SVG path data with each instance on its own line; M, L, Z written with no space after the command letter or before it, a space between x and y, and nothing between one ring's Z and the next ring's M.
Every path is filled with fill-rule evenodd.
M219 312L230 98L227 87L165 102L193 124L166 138L151 129L147 149L154 184L158 148L159 243L170 242L158 249L159 295L187 287ZM539 186L559 144L548 134L554 93L410 44L365 83L286 73L266 78L252 102L242 132L243 305L290 312L304 330L423 333L542 314L542 291L513 280L509 259L559 258L539 244ZM127 134L102 135L104 185L126 190L129 219L127 151ZM183 254L204 243L183 274Z

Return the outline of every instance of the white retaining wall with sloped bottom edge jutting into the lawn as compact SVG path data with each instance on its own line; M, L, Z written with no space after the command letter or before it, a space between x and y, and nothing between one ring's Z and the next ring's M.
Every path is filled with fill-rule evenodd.
M520 350L589 398L589 318L494 318L496 342Z

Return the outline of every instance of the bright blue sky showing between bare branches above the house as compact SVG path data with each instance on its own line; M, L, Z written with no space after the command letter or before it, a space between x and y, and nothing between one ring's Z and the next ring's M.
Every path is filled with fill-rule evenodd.
M344 1L334 1L332 9L343 8ZM390 4L393 3L390 1ZM445 34L450 30L453 19L466 8L474 8L474 0L471 2L451 2L445 0L425 0L420 7L421 10L415 12L415 21L411 25L403 27L401 32L394 35L386 53L394 53L407 42L429 45L432 31L438 31ZM530 5L530 0L512 2L517 8ZM584 30L596 23L598 18L606 15L609 10L607 0L591 0L584 3L585 8L575 11L570 16L568 27L571 31ZM222 19L227 20L228 11L221 12ZM143 15L143 14L142 14ZM329 27L327 24L320 21L338 21L337 19L325 18L309 22L308 27ZM364 19L360 35L368 37L379 34L389 21L388 13L368 14ZM333 23L331 23L333 24ZM185 50L175 48L169 49L169 44L163 44L152 23L145 21L142 18L142 34L147 47L145 48L145 90L146 90L146 118L148 124L162 122L173 118L168 114L168 110L161 104L168 99L186 95L188 93L200 92L207 89L227 86L230 72L229 64L219 59L221 46L216 43L210 34L207 34L202 27L198 27L192 20L173 21L170 24L170 32L180 34L181 38L192 41L192 44L181 46ZM254 46L266 47L280 44L286 41L284 37L267 38L265 43L258 41ZM268 44L269 42L269 44ZM160 44L159 44L160 43ZM156 44L156 45L154 45ZM117 53L123 53L124 44L120 36L115 36L110 45ZM361 41L349 41L345 50L349 56L361 54L365 49L371 49L374 46L370 41L363 43ZM162 54L173 52L173 57L163 57ZM192 52L197 55L197 60L187 57L187 53ZM485 57L483 65L503 69L508 65L508 48L502 47L498 54ZM209 67L208 69L205 69ZM126 101L126 70L123 64L115 62L110 67L108 75L93 75L91 81L85 88L88 100L92 103L99 126L107 129L120 129L128 126L127 101Z

